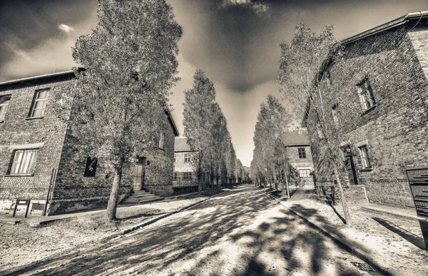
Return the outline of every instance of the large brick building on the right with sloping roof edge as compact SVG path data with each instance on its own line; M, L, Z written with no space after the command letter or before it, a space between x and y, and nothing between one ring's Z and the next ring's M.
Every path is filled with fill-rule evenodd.
M322 97L331 107L330 121L352 118L342 126L340 141L345 196L351 203L412 207L406 170L428 167L428 12L407 14L341 43L345 62L327 62L322 69L322 85L334 83L340 92ZM343 72L346 79L338 81ZM312 109L309 116L316 120ZM331 166L318 152L313 149L316 184L330 185Z

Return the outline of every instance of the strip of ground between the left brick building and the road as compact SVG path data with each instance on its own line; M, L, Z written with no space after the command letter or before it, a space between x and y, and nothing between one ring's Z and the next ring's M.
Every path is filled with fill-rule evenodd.
M16 225L0 223L0 266L7 270L105 242L223 193L120 207L115 223L106 222L105 210L29 218Z

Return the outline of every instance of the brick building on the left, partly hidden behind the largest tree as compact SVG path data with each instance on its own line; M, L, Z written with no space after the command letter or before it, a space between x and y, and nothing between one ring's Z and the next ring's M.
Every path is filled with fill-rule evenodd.
M66 121L50 108L54 93L70 89L73 79L73 71L67 71L0 83L1 213L13 211L17 199L30 200L30 215L106 207L113 179L103 160L75 158ZM170 113L163 115L159 148L136 156L135 164L123 170L121 198L139 189L173 194L178 131Z

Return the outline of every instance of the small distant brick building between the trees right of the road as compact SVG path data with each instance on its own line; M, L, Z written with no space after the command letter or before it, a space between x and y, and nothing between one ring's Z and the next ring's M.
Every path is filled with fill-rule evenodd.
M283 153L288 163L299 173L301 179L299 188L313 190L315 188L312 177L314 165L307 132L302 130L288 131L282 134L278 140L280 140L280 145L284 147Z

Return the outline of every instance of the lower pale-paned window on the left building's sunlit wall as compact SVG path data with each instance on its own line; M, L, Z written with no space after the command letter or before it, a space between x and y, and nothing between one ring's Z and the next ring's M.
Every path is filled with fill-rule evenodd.
M11 158L11 167L10 167L10 170L6 173L6 175L9 175L9 176L33 176L34 175L34 169L36 168L37 158L39 157L39 150L40 150L40 148L24 148L24 149L14 150L14 152L12 154L12 158ZM28 156L29 152L31 152L30 156ZM16 160L16 157L17 157L16 154L17 153L22 153L19 156L19 161ZM27 155L26 155L26 153L27 153ZM26 157L26 159L24 159L24 156ZM21 171L21 166L23 165L23 163L24 164L26 163L25 172ZM19 165L18 165L18 168L16 169L17 164L19 164ZM15 173L16 170L17 170L17 172Z

